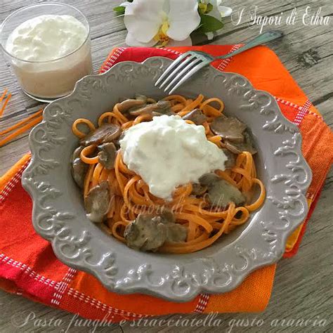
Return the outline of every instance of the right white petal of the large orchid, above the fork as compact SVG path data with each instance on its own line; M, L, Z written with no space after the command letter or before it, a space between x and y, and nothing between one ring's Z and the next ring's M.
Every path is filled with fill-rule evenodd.
M197 0L169 0L169 30L166 34L176 41L183 41L200 25Z

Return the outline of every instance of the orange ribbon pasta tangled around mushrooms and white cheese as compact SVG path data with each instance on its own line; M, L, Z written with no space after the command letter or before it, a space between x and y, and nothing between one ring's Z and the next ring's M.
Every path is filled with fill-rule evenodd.
M148 99L153 101L151 99ZM207 136L207 140L221 148L223 140L221 136L216 136L210 129L210 124L223 112L224 104L218 98L204 100L204 96L190 100L183 96L168 96L164 100L169 100L171 110L177 115L183 116L195 108L202 110L207 117L207 121L202 124ZM211 103L219 105L218 109ZM118 110L118 104L110 112L105 112L98 119L98 126L108 122L118 124L122 130L129 129L140 122L149 122L152 115L143 114L138 117L127 117ZM194 124L192 121L187 121ZM83 138L86 133L80 131L77 126L84 124L93 131L95 126L88 119L77 119L72 131L78 138ZM159 252L174 254L185 254L199 251L209 247L216 242L223 234L230 233L237 226L246 223L252 211L259 209L266 197L263 183L256 178L256 166L254 159L249 152L241 152L237 155L235 166L226 171L216 170L216 175L237 187L247 204L236 207L230 202L227 207L210 207L204 195L195 197L192 195L192 184L181 185L174 191L170 202L166 202L152 195L148 185L141 176L131 171L123 161L122 153L117 152L114 169L105 169L98 162L97 145L89 145L81 150L81 161L89 164L88 171L84 179L84 197L89 190L107 181L110 187L112 198L107 211L106 220L103 223L103 230L113 235L121 242L126 242L124 230L126 226L135 220L138 214L158 214L163 208L171 209L174 212L176 223L181 223L188 230L185 242L165 242L159 247ZM255 191L257 190L257 191ZM254 200L250 200L258 192Z

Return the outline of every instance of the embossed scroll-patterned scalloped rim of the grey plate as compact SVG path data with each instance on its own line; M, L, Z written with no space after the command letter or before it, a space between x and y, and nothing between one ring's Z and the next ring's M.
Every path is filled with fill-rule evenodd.
M276 174L273 178L270 178L272 183L279 183L280 185L282 183L281 186L285 189L285 196L277 198L268 195L264 204L270 202L273 205L272 207L276 209L276 216L279 216L277 218L280 219L279 223L284 221L285 224L280 225L278 222L272 221L257 223L256 228L258 230L261 228L260 240L265 242L265 246L268 246L266 248L263 248L262 244L258 245L259 247L251 245L250 248L233 244L232 247L228 246L226 249L221 249L224 252L227 252L227 250L230 252L231 250L230 258L233 257L233 252L235 252L237 254L235 262L220 264L216 254L211 254L199 258L199 268L195 266L192 269L192 266L188 266L190 264L184 259L183 266L174 264L171 271L164 275L157 273L158 278L155 276L152 279L151 276L157 270L153 270L150 263L143 261L137 267L131 267L130 270L127 270L125 275L122 273L120 278L115 278L119 274L119 266L117 266L119 253L102 251L103 253L98 257L98 260L93 261L92 258L95 252L87 245L93 242L91 233L82 230L81 235L72 235L72 230L67 221L74 218L73 214L57 211L54 207L58 197L61 196L60 191L47 183L46 178L47 173L57 168L60 163L41 157L42 155L47 157L48 152L57 149L66 142L66 138L58 136L57 131L61 131L62 127L65 126L64 124L69 122L71 112L74 112L72 107L76 103L81 103L84 98L87 99L87 96L89 99L89 94L93 89L103 91L105 82L112 81L117 75L121 77L121 73L124 72L129 75L131 70L138 70L141 74L144 73L148 76L151 74L156 79L170 62L171 60L168 58L152 57L143 63L130 61L118 63L103 74L84 77L77 82L70 96L50 103L44 110L43 121L35 126L30 133L29 142L32 160L22 174L22 185L32 197L32 221L35 230L41 237L51 241L56 256L67 266L85 270L95 275L107 289L113 292L121 294L141 292L160 296L169 301L190 301L200 293L229 292L240 285L253 270L278 261L284 253L288 235L306 217L308 207L305 193L311 183L312 175L311 169L301 152L301 134L297 126L282 115L278 103L270 93L254 89L249 80L240 74L219 72L214 67L209 67L206 70L206 74L213 71L209 74L211 82L220 80L225 89L228 89L231 93L243 93L242 97L246 97L248 102L247 105L243 105L244 110L259 108L260 114L263 116L270 116L273 113L273 119L270 117L263 129L277 135L282 133L283 136L286 136L284 140L281 139L281 146L274 151L273 155L281 157L296 156L296 160L289 161L289 164L286 164L284 173ZM202 77L204 75L203 73ZM62 109L61 105L66 105L67 109ZM282 193L280 194L282 195ZM296 206L301 207L299 211L297 209L295 211ZM275 226L274 223L279 225ZM252 226L252 229L254 229L254 226ZM242 244L240 238L244 237L239 237L235 243ZM254 241L258 240L254 238ZM221 251L219 249L216 253L218 254ZM201 252L196 253L200 257ZM187 270L186 267L191 267L191 269Z

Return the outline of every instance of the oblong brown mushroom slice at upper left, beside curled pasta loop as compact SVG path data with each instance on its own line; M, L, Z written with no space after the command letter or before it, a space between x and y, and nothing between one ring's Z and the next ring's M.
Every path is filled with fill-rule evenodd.
M117 139L122 130L116 124L102 124L95 131L90 132L81 139L81 145L100 145L102 143L112 142Z

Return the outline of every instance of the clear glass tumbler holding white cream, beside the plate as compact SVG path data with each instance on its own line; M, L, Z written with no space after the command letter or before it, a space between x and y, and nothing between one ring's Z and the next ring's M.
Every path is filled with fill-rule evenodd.
M22 22L40 15L73 16L86 28L84 42L68 54L52 60L23 60L8 52L6 43L11 32ZM23 91L41 102L48 103L67 96L74 89L77 80L93 71L89 23L81 11L73 6L47 2L15 11L1 24L0 44Z

